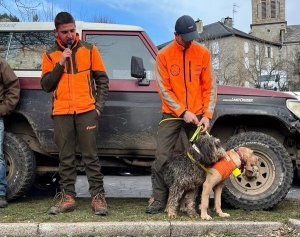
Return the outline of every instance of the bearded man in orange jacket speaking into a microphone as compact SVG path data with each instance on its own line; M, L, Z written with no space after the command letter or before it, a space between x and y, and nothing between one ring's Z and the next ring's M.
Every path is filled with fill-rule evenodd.
M76 140L96 215L107 215L103 175L97 150L98 119L108 93L108 77L95 45L79 39L75 20L60 12L55 20L56 45L43 54L41 86L53 94L54 140L59 148L60 200L51 214L73 211L76 182ZM96 90L94 85L96 85Z

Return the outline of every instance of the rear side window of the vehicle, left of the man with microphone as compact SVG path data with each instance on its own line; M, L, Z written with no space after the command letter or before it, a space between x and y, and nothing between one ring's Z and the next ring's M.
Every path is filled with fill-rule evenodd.
M42 54L55 42L53 31L0 32L0 57L13 70L41 70Z

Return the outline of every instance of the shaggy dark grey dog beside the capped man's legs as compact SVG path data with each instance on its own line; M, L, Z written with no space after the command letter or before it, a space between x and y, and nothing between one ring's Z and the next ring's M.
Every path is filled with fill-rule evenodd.
M177 208L181 206L190 217L198 217L195 200L198 188L206 179L205 167L213 166L226 155L218 138L201 135L183 154L171 157L163 168L165 182L169 188L169 197L165 212L170 218L177 217ZM203 168L199 167L203 166ZM184 194L183 194L184 193Z

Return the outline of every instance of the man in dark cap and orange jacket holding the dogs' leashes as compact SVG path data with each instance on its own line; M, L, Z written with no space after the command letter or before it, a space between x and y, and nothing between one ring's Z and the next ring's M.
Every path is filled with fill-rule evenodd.
M180 131L183 129L190 138L197 126L202 125L205 132L217 97L210 53L194 41L199 38L194 20L187 15L178 18L174 35L174 41L159 51L154 69L162 101L162 120L166 120L158 126L152 202L146 207L149 214L165 208L168 188L161 170L174 152Z

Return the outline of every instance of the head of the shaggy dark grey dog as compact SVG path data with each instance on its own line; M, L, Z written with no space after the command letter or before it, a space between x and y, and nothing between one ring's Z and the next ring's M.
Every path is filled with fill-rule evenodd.
M221 141L209 135L200 135L194 141L194 144L188 148L188 152L196 161L204 166L212 166L226 154Z

